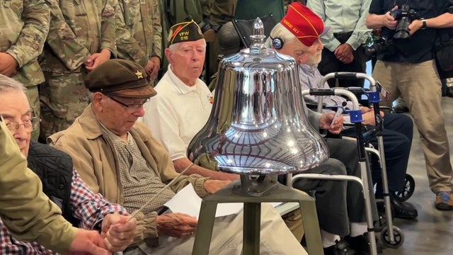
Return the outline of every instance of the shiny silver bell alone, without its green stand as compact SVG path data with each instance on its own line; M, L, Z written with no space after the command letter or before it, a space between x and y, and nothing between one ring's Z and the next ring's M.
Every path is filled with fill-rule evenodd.
M295 60L265 47L259 18L251 39L250 48L220 62L214 106L189 159L207 155L220 171L241 176L318 166L328 149L303 111Z

